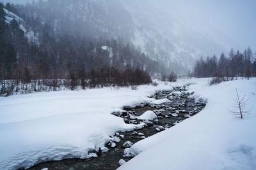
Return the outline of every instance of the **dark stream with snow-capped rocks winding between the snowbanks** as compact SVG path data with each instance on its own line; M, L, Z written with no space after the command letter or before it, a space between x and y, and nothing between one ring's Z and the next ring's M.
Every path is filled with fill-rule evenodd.
M132 155L125 153L125 148L131 147L134 143L148 138L157 132L164 131L172 126L179 124L186 118L196 115L205 107L204 101L195 101L186 91L186 87L175 87L172 90L163 90L152 94L149 97L155 99L169 99L168 102L162 104L140 103L132 108L125 106L123 112L113 113L117 117L124 118L126 124L141 124L142 129L129 132L116 132L110 136L111 141L106 144L108 152L97 150L89 153L88 159L64 159L60 161L49 161L37 164L29 169L116 169L128 160L132 159ZM138 117L145 115L148 111L149 115L154 112L152 120L139 120ZM142 118L141 118L142 119Z

